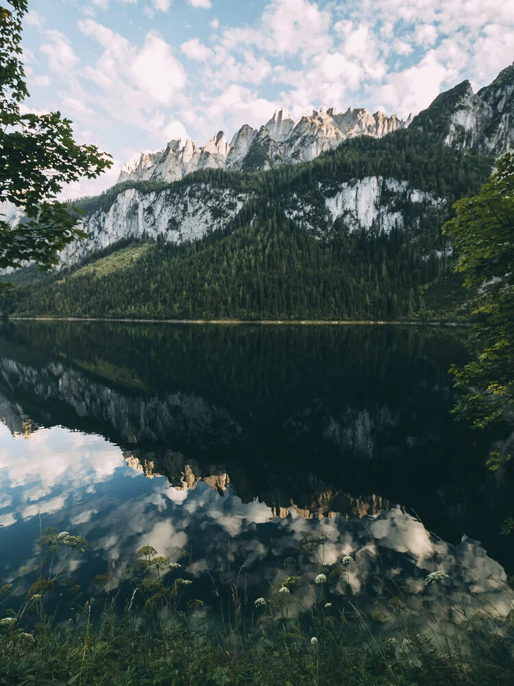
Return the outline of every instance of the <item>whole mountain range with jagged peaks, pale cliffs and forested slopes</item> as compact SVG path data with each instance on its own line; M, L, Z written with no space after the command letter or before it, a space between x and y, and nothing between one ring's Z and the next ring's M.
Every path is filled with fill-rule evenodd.
M294 121L282 109L258 130L243 126L230 144L223 132L204 147L170 141L125 165L101 196L74 203L88 238L67 246L60 270L37 286L27 283L34 270L14 274L25 285L8 310L141 318L439 314L446 305L439 307L438 295L427 307L430 293L444 292L451 303L460 285L441 286L453 279L441 224L511 147L514 64L478 93L468 81L441 93L407 121L354 108L321 108Z

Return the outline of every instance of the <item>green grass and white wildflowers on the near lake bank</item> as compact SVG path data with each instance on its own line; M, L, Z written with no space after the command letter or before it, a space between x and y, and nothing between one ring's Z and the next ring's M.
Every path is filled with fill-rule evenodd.
M66 568L87 542L47 530L32 586L23 596L16 583L1 589L0 684L514 683L514 611L501 615L478 595L470 611L439 573L432 585L428 578L417 609L399 593L367 616L349 592L353 560L325 567L319 552L323 544L323 536L312 535L302 543L319 563L321 576L309 584L299 576L284 576L257 602L240 576L227 598L213 582L216 613L189 592L194 593L194 581L184 578L180 551L167 559L147 545L131 565L111 561L106 575L93 580L93 595L85 602L72 588L75 600L65 619L58 620L57 610L47 612L49 595L57 591L62 597ZM131 589L124 599L115 582L119 574ZM343 592L337 609L327 602L336 588Z

